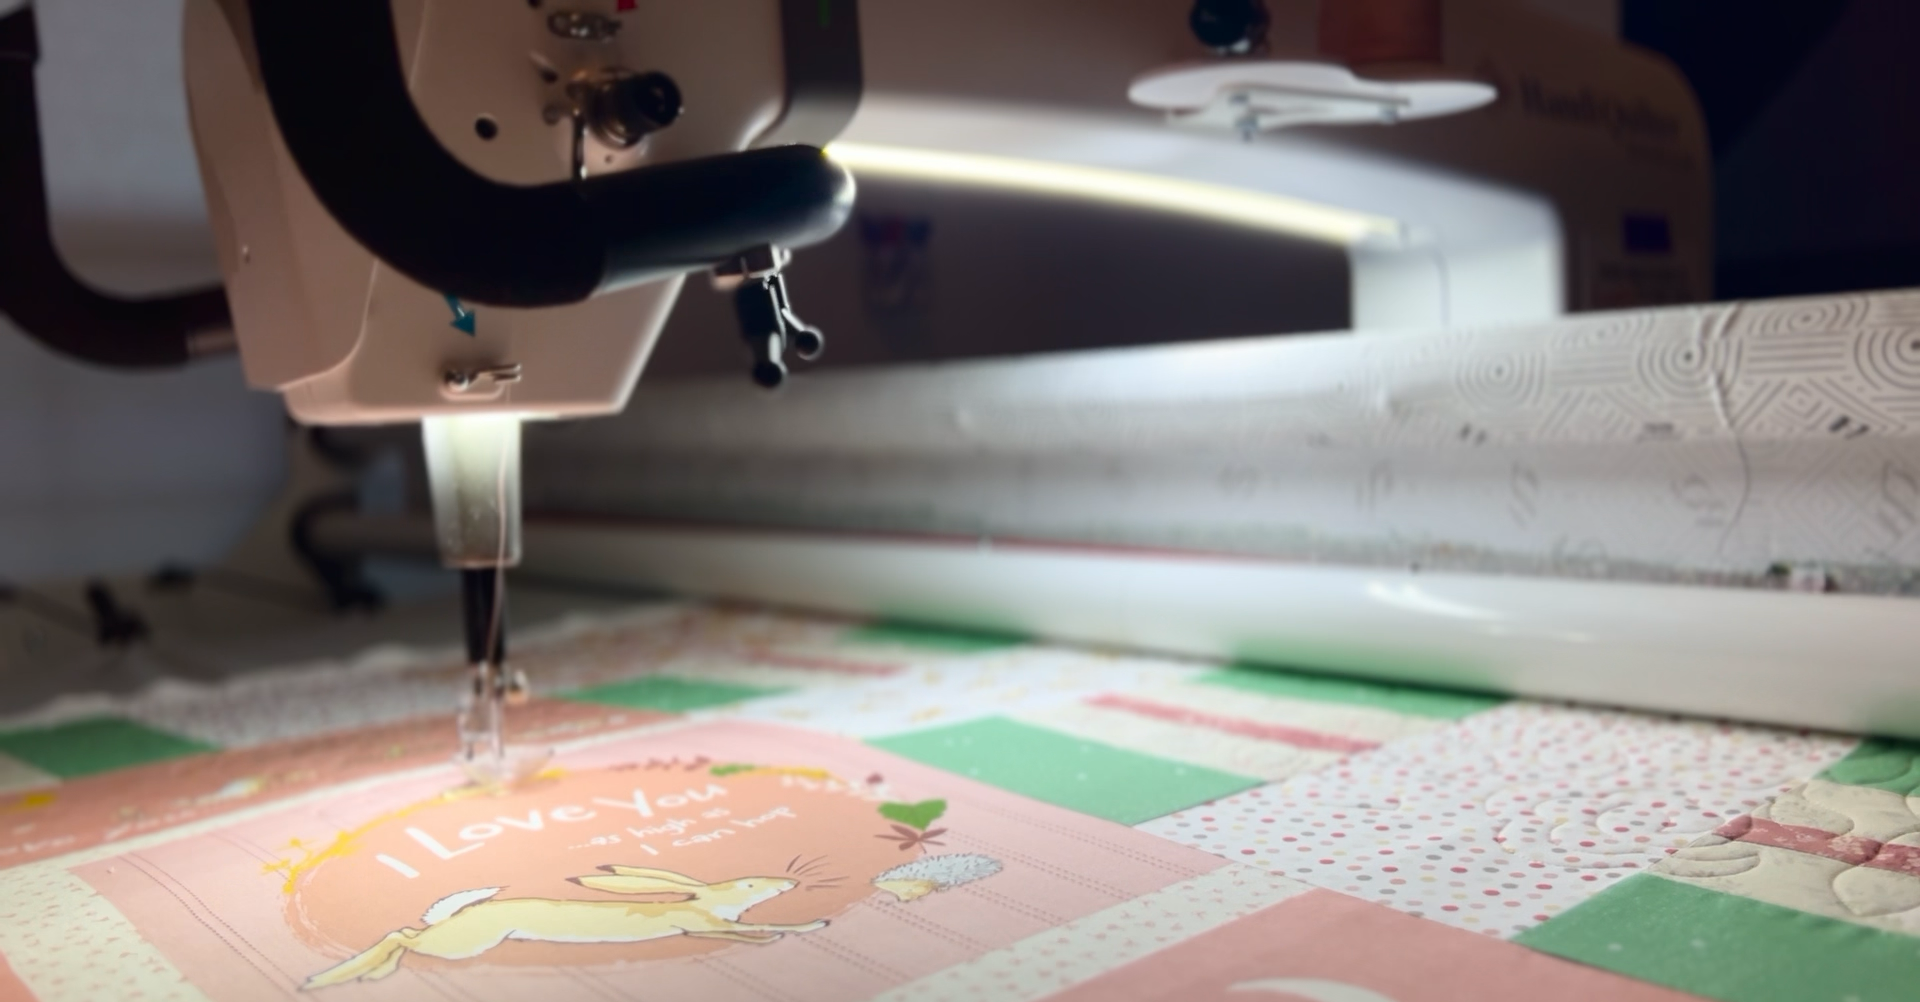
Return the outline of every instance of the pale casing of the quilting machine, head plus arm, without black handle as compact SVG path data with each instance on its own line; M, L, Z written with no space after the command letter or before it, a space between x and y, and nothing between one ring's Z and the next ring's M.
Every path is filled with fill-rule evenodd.
M864 86L849 144L1133 171L1396 221L1392 236L1348 246L1359 330L1542 321L1709 294L1705 134L1678 73L1515 0L1430 4L1430 65L1336 65L1313 46L1315 19L1369 2L1271 0L1267 46L1227 58L1192 36L1188 0L833 0L820 12L858 15ZM591 144L593 173L791 142L780 0L568 4L620 21L599 42L549 31L555 10L394 0L413 100L476 173L566 179L572 127L555 113L564 81L612 65L672 75L687 113L632 150ZM1233 69L1196 75L1208 60ZM376 261L307 188L263 92L244 0L188 2L186 65L253 386L315 424L624 407L680 278L549 309L449 301ZM1457 113L1236 131L1208 127L1219 115L1183 98L1194 81L1229 100L1269 92L1275 79L1352 81L1361 106L1398 88L1417 96L1405 119ZM1183 100L1194 107L1175 107ZM1352 94L1323 104L1296 119L1356 121ZM518 367L518 380L449 388L445 378L493 367Z

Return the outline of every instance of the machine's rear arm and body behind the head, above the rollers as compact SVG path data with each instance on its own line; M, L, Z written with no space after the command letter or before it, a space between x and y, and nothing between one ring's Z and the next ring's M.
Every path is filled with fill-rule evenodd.
M1711 298L1707 132L1661 56L1523 0L1269 0L1267 50L1200 73L1188 6L864 4L866 92L843 140L1139 171L1394 219L1398 238L1346 248L1361 332ZM1423 6L1438 10L1436 60L1340 65L1323 52L1321 25L1342 8ZM1244 136L1231 115L1181 100L1204 81L1223 102L1258 104L1288 79L1308 113L1283 131ZM1475 81L1492 84L1492 104ZM1317 88L1340 100L1300 100ZM1392 90L1407 100L1398 125L1352 113L1356 98Z

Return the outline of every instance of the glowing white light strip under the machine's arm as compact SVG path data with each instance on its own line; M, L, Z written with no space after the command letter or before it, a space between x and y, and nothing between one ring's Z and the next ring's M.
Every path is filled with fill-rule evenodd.
M1202 184L1106 167L910 150L904 146L868 146L858 142L835 142L828 146L828 155L847 165L854 175L870 173L876 177L1083 198L1275 230L1342 246L1367 238L1396 238L1400 234L1400 223L1379 215L1223 184Z

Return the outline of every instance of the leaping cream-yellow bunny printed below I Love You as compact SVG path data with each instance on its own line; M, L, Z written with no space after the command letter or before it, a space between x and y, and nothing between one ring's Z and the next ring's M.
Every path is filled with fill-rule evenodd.
M396 929L361 954L328 967L301 990L378 981L409 954L442 960L476 958L509 939L536 942L645 942L666 937L774 942L787 933L824 929L826 919L801 925L739 921L764 900L793 891L787 877L739 877L701 883L668 870L603 866L603 873L568 877L591 891L616 895L682 895L672 902L495 898L499 887L459 891L420 916L424 929Z

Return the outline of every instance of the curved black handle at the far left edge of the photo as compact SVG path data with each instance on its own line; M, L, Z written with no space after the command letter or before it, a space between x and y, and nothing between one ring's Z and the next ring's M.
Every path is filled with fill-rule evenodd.
M113 369L177 367L205 346L230 349L225 290L125 299L81 282L60 259L40 159L38 60L33 6L0 17L0 313L61 355Z

